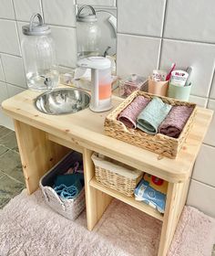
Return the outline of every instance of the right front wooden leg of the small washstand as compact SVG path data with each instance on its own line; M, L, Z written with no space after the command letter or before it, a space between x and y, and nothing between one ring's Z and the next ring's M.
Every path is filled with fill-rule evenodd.
M159 256L166 256L185 205L189 179L185 183L169 183L166 209L159 241Z

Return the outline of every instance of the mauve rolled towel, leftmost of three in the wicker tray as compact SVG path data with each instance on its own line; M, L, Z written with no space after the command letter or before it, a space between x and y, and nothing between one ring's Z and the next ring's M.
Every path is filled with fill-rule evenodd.
M118 115L118 121L124 123L128 128L137 127L138 114L147 106L150 100L143 96L138 96L131 101L127 108L125 108Z

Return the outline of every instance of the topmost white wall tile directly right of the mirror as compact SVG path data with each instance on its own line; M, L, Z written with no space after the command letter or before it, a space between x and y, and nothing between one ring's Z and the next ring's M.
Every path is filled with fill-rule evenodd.
M118 32L160 37L166 0L118 0Z

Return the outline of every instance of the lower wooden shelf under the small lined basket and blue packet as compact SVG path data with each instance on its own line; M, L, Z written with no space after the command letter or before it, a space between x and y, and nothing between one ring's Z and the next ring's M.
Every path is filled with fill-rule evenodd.
M115 197L118 200L120 200L134 208L138 208L139 210L147 213L148 215L163 221L163 215L161 213L159 213L159 211L157 209L151 208L147 204L144 204L143 202L136 201L134 197L124 196L122 193L119 193L118 191L116 191L114 189L103 186L102 184L97 182L97 179L95 176L89 181L89 186L94 187L94 188L106 193L107 195L109 195L111 197Z

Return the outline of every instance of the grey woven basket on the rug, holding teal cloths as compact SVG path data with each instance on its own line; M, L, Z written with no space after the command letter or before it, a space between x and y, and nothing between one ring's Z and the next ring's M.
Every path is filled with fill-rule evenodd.
M46 173L45 176L42 176L39 182L46 204L67 219L72 220L77 219L78 215L85 208L85 189L82 188L81 192L75 198L63 199L58 197L52 186L57 175L64 174L69 166L73 165L76 161L81 160L81 154L77 152L69 153Z

